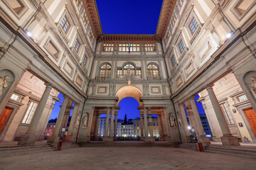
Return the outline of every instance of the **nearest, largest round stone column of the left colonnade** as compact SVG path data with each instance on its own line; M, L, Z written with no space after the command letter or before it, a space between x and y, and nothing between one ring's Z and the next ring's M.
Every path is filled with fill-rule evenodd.
M38 103L38 107L36 108L36 112L33 115L31 124L28 127L28 131L25 135L20 137L18 140L18 145L34 145L37 138L41 135L37 134L36 129L38 128L43 109L46 107L46 102L48 101L48 97L52 88L53 86L51 84L46 84L46 89L43 92L43 96L41 97L40 102Z

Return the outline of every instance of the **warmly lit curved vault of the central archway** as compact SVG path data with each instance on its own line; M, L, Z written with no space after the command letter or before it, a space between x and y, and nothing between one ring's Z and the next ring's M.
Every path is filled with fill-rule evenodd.
M143 103L139 100L139 98L143 96L142 91L135 86L123 86L117 91L116 96L118 97L117 105L123 98L131 97L135 98L139 102L139 106L143 106Z

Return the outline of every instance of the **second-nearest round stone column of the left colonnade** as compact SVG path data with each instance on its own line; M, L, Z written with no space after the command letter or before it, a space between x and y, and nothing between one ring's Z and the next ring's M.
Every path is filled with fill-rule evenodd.
M64 101L63 104L60 108L60 113L58 115L57 121L55 123L55 128L53 131L53 135L51 135L48 139L48 143L58 143L59 141L59 132L60 129L62 128L62 122L63 122L63 117L64 117L64 113L65 113L65 108L67 107L68 104L68 96L64 96Z

